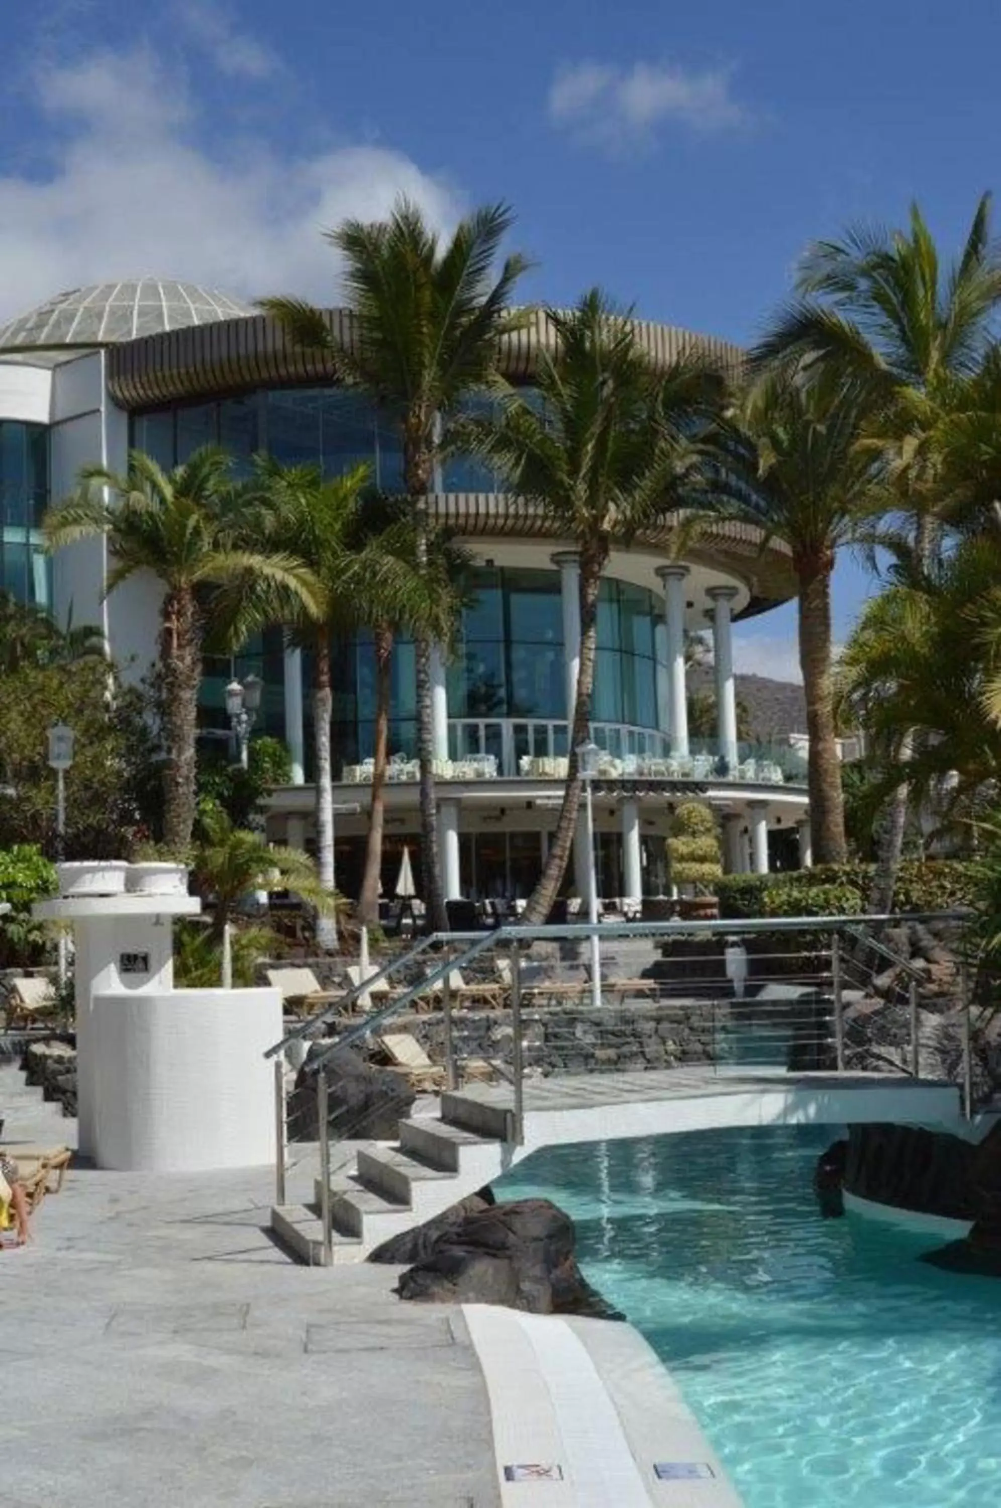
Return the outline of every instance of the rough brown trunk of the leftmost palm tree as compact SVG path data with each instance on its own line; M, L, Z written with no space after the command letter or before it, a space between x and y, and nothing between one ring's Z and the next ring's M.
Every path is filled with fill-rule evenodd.
M197 766L197 692L202 682L202 635L194 594L178 588L163 603L161 636L163 736L163 840L175 852L191 841Z

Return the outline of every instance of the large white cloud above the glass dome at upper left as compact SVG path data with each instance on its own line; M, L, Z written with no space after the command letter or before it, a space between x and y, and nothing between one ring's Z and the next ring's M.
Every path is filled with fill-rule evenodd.
M42 173L0 176L0 317L143 273L332 300L338 264L323 229L378 219L399 193L440 228L461 208L392 148L279 152L231 139L182 72L143 47L44 68L33 104L51 146Z

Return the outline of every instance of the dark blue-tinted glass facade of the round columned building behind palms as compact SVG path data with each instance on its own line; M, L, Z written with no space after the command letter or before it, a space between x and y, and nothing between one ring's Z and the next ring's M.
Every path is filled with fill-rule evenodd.
M473 400L482 403L488 400ZM365 461L372 481L386 490L403 487L403 454L392 416L363 394L344 388L273 388L211 403L173 404L133 418L131 443L163 466L187 460L199 445L223 445L249 469L256 451L285 464L320 464L329 477ZM442 464L446 492L496 492L497 478L478 460L454 455ZM494 719L482 752L501 754L499 719L564 719L565 676L559 572L549 569L478 567L469 579L464 609L448 667L448 707L452 719ZM603 581L598 597L598 653L594 721L657 725L654 624L659 599L642 587ZM225 730L223 691L229 661L210 662L202 691L207 725ZM234 662L237 674L264 677L261 730L279 734L282 712L282 644L277 632L247 645ZM372 752L375 716L375 656L371 635L335 645L335 763L356 763ZM393 654L393 754L416 752L413 644L398 639ZM309 685L309 683L308 683ZM309 697L305 700L306 768L312 759ZM494 748L496 743L496 748ZM516 752L538 752L523 749ZM553 752L565 752L558 748Z

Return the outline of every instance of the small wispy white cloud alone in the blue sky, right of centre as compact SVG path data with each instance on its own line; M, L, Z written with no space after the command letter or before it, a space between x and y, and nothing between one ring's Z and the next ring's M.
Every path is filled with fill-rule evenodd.
M582 140L621 149L644 145L656 127L678 122L712 134L751 122L731 93L731 69L687 71L677 63L573 63L549 90L550 121Z

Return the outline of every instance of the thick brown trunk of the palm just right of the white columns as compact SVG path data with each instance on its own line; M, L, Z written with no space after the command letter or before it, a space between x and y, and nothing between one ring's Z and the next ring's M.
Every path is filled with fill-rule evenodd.
M831 569L826 562L810 562L799 569L799 665L807 697L814 860L817 864L843 864L844 796L834 725Z

